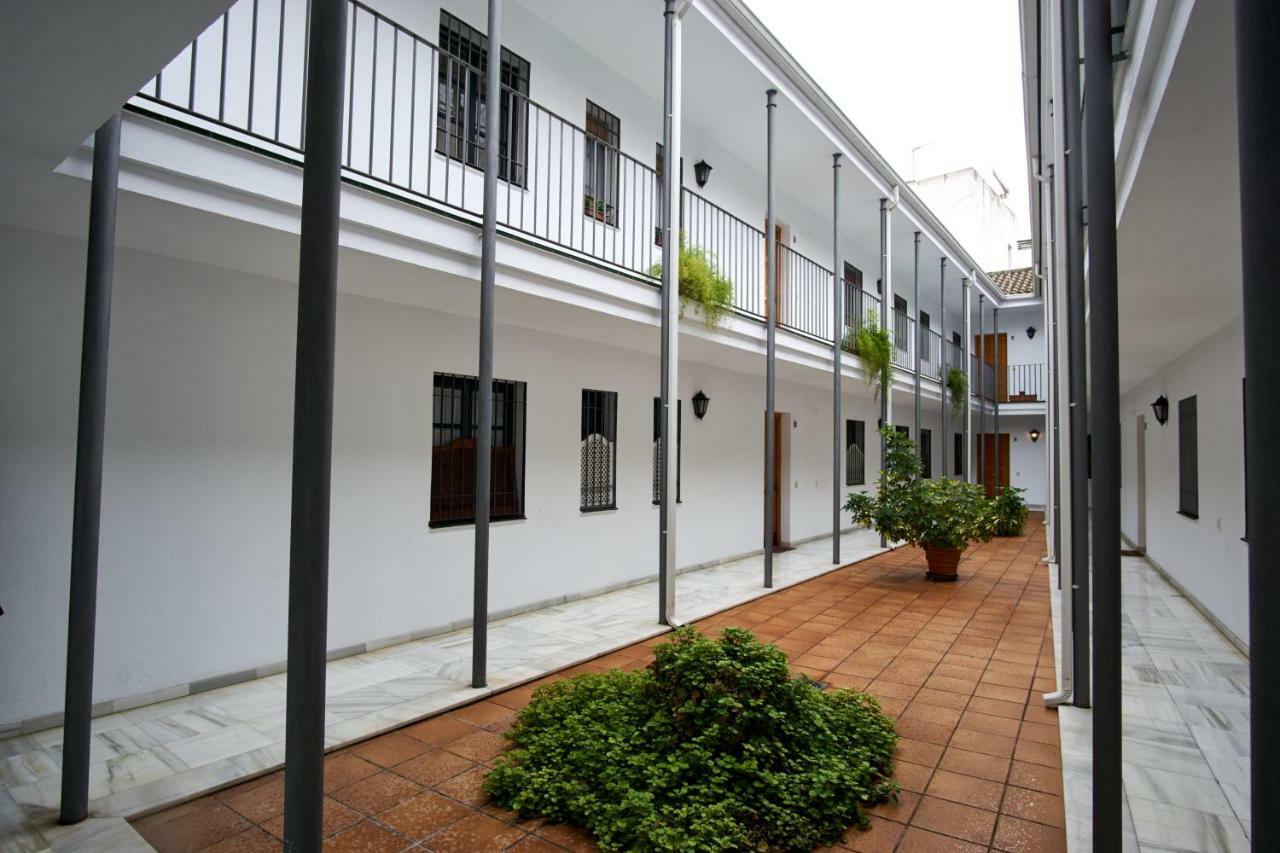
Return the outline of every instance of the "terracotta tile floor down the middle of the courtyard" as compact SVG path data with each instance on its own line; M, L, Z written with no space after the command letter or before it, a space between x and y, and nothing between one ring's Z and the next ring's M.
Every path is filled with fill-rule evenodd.
M897 719L897 799L837 849L1065 850L1050 589L1043 528L966 552L961 580L932 584L923 555L900 548L701 620L776 642L795 669L865 689ZM548 679L640 667L646 640ZM543 679L543 680L548 680ZM538 683L511 689L330 754L328 850L594 849L572 827L516 816L480 789L499 736ZM169 850L275 850L283 774L143 817L134 827Z

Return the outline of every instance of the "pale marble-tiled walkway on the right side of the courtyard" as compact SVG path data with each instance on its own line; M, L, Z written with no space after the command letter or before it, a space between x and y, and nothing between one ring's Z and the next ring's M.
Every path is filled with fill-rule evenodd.
M1249 662L1139 557L1121 564L1126 849L1249 849ZM1092 715L1062 708L1071 850L1089 850Z

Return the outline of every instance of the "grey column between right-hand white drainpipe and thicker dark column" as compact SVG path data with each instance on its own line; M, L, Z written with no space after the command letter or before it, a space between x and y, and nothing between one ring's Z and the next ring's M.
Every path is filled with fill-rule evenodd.
M1068 310L1068 407L1070 410L1070 523L1071 606L1075 648L1071 661L1071 703L1089 707L1089 475L1088 475L1088 350L1084 323L1084 143L1080 138L1080 26L1078 0L1062 0L1062 129L1066 151L1062 158L1066 184L1066 298Z

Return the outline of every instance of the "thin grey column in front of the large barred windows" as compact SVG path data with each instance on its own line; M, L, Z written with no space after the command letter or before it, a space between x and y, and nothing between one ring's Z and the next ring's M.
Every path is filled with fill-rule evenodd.
M485 140L502 131L502 0L489 0L489 56L485 67ZM498 146L484 146L484 228L480 232L480 370L476 384L476 530L471 592L471 686L488 681L489 657L489 514L493 493L493 301L498 251Z

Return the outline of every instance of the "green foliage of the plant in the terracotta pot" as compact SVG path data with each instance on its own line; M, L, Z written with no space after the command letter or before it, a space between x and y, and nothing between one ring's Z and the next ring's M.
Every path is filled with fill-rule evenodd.
M995 520L980 487L920 479L915 442L891 426L881 435L887 444L877 493L850 494L845 503L854 521L872 525L892 542L933 548L964 549L991 539Z

